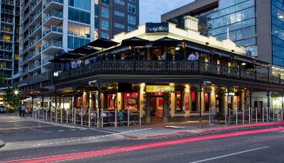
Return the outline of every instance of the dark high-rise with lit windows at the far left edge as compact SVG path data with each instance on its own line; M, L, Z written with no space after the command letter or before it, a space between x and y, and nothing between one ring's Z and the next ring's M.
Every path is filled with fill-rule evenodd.
M20 0L0 0L0 87L18 73Z

